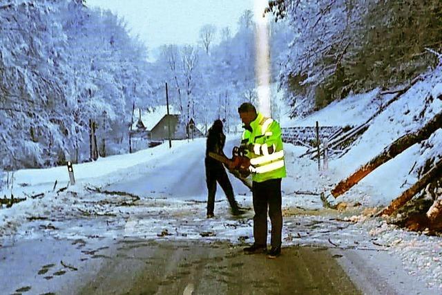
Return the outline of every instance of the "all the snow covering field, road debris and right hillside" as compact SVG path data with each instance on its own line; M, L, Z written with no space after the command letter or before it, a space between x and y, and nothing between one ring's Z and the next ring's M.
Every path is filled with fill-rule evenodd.
M427 74L378 115L348 153L331 160L327 171L318 171L314 161L298 158L305 152L304 148L285 145L288 177L282 182L284 245L385 252L400 258L410 282L418 280L423 283L426 289L420 292L442 292L442 239L404 231L387 225L384 220L369 218L371 213L416 181L416 168L425 162L423 153L425 157L441 158L441 130L425 142L430 148L424 151L422 144L410 147L339 197L338 201L349 202L346 211L323 209L319 198L320 192L330 189L383 151L390 142L415 131L441 112L441 82L441 68ZM300 122L285 120L285 124L305 126L316 120L342 126L361 124L376 111L373 108L375 101L380 106L391 98L390 95L379 97L378 92L350 96L310 118ZM356 101L363 101L363 106ZM238 142L238 135L229 135L226 153L229 154ZM19 260L11 254L15 251L23 256L30 255L34 251L32 240L39 238L79 241L86 248L117 238L249 242L253 211L243 218L230 216L219 187L215 218L205 218L204 149L204 139L175 141L172 149L166 143L131 155L115 155L97 162L77 164L74 165L76 184L61 192L57 191L65 187L69 179L66 166L26 169L16 171L13 177L8 175L9 185L3 188L1 196L13 194L15 198L23 198L39 193L44 196L28 197L24 202L0 210L2 272L6 272L6 265L21 269L17 278L1 276L1 285L8 285L11 280L27 280L34 285L44 282L41 276L31 275L31 272L43 265L47 257L34 257L33 262L27 264L28 260ZM57 186L54 189L55 180ZM248 189L234 178L231 181L238 201L244 207L251 207ZM99 192L97 188L108 193ZM109 193L115 191L126 194ZM362 206L351 207L356 203ZM35 251L39 252L38 249ZM51 251L66 249L59 247ZM79 252L77 256L70 256L70 263L81 264L81 257ZM379 267L383 267L386 273L389 266L381 263L384 256L373 257L370 259L378 259ZM29 276L26 276L27 272L30 272ZM70 278L53 279L52 284L63 284ZM399 280L390 280L401 285ZM41 292L44 290L41 287ZM14 289L8 289L8 292L14 292Z

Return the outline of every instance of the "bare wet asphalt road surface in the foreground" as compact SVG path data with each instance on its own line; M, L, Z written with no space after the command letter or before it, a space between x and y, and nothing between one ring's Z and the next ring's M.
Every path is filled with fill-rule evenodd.
M227 242L124 240L77 294L361 294L327 249L245 255Z

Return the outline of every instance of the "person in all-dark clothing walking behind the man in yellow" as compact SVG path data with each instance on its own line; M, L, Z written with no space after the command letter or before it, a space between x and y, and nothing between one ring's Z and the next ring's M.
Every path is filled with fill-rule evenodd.
M244 213L238 206L233 194L233 187L227 176L226 169L221 162L209 157L209 151L224 155L224 144L226 142L226 135L222 133L222 121L215 120L209 129L206 141L206 159L204 164L206 166L206 184L209 193L207 197L207 218L213 217L213 209L215 207L215 193L216 182L218 182L227 196L231 212L233 215L240 215Z

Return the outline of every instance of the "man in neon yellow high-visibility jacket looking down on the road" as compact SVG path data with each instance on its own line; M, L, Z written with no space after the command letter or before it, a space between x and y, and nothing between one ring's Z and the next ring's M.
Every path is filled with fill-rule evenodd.
M241 146L250 159L253 195L253 237L246 254L267 251L267 208L271 221L271 249L267 257L276 258L281 253L282 211L281 180L285 177L284 150L278 122L257 113L253 104L244 103L238 108L244 133Z

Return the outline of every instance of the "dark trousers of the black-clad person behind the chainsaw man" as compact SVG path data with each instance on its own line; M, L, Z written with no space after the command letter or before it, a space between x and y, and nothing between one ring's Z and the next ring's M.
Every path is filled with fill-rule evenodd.
M222 190L226 194L231 209L238 209L238 204L233 195L233 187L224 166L222 166L220 162L210 158L206 158L204 164L206 166L207 191L209 191L207 198L207 213L213 214L213 209L215 207L216 182L220 184Z

